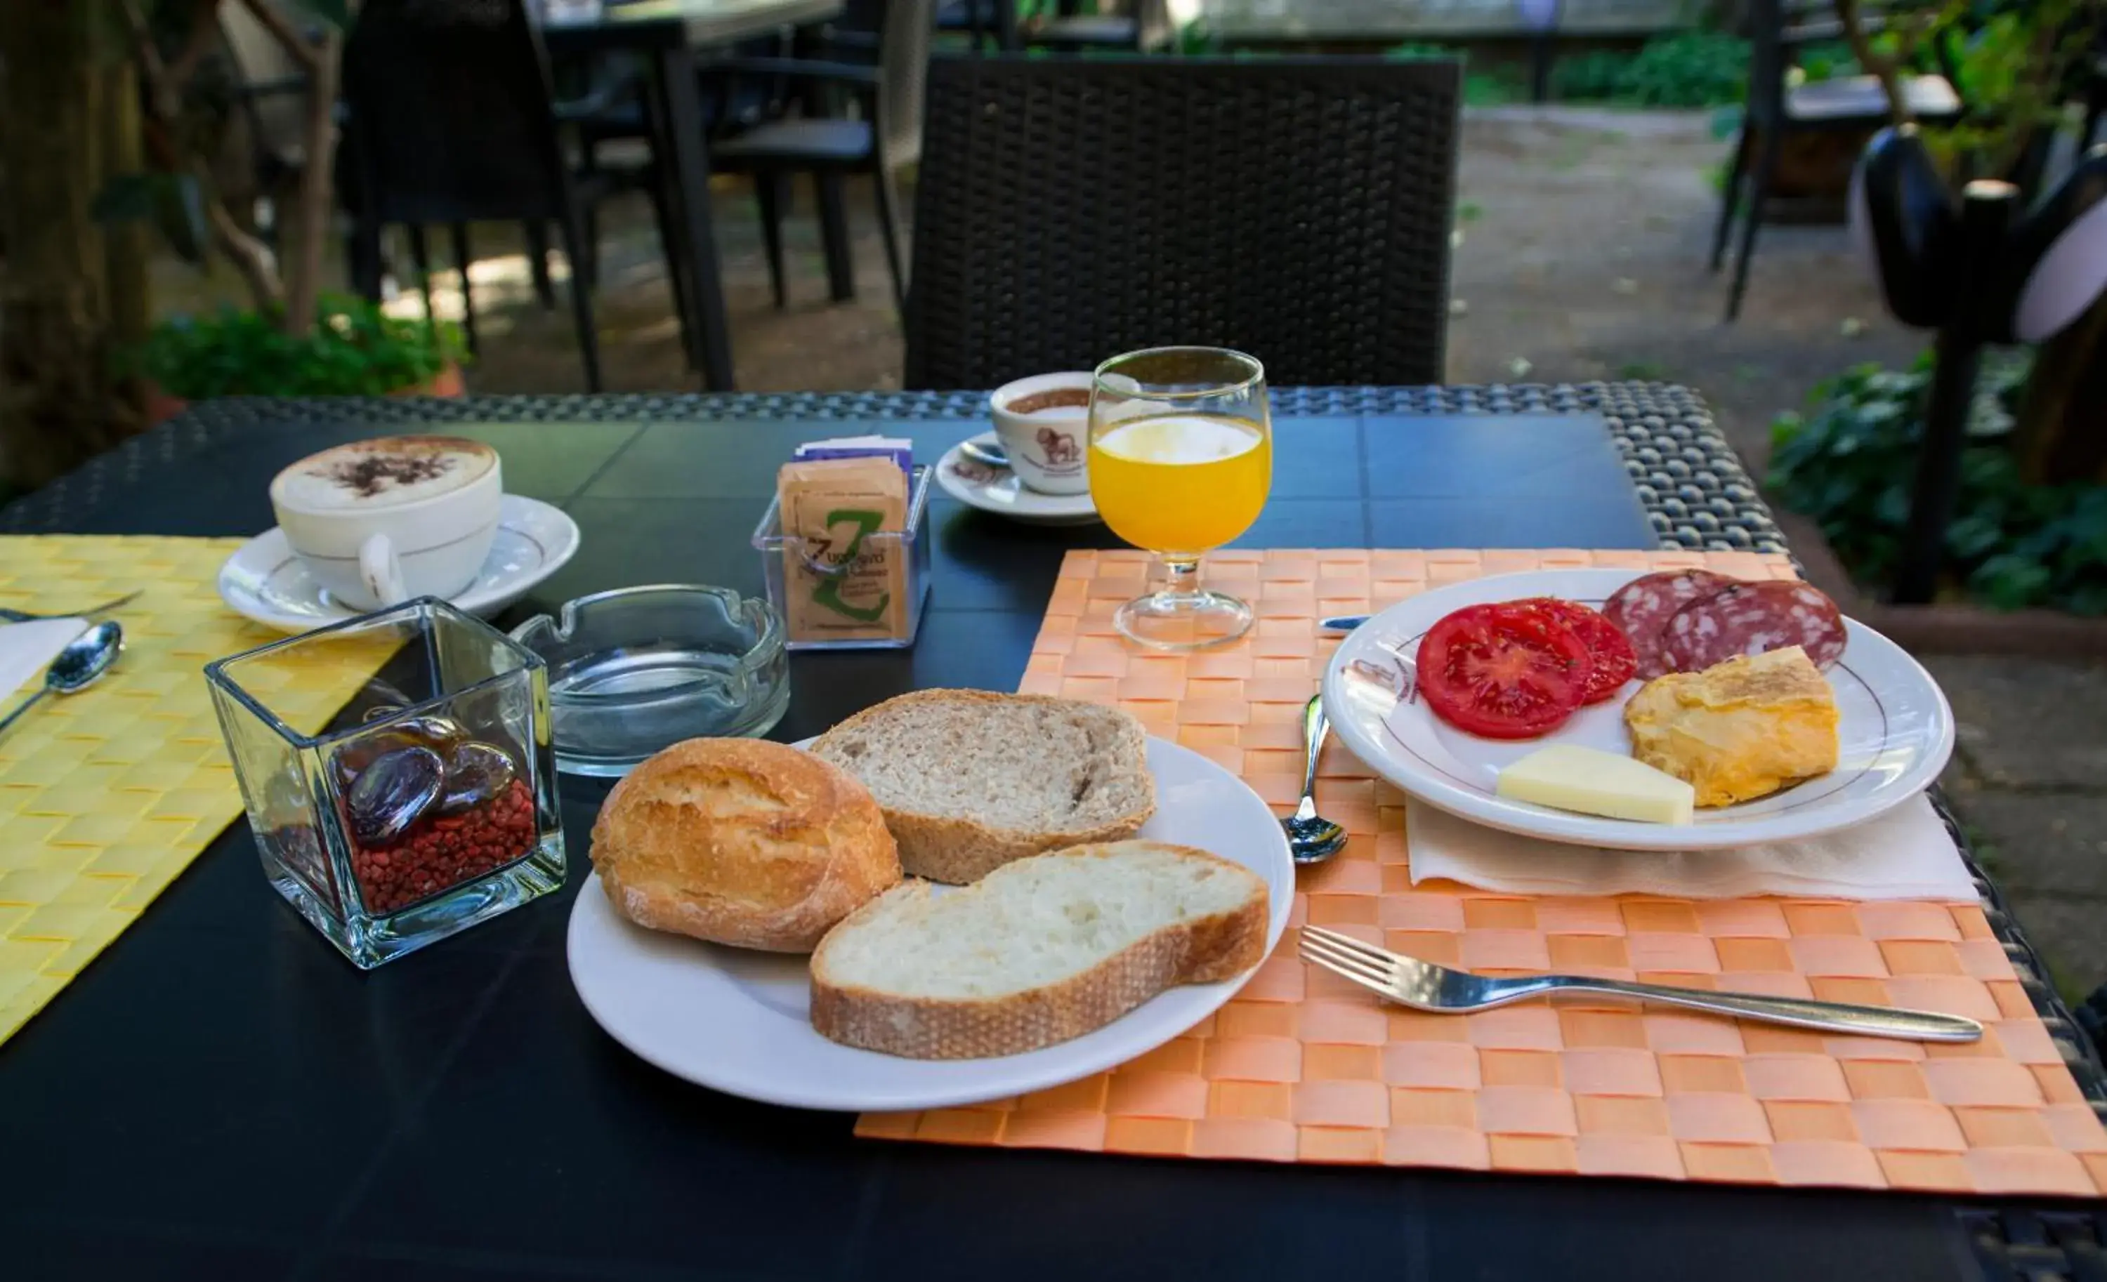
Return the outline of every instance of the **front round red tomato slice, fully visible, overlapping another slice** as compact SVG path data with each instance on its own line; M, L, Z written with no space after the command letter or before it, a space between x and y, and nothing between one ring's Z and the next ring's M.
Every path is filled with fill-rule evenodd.
M1534 739L1580 707L1587 644L1542 610L1464 606L1420 638L1418 686L1435 716L1485 739Z

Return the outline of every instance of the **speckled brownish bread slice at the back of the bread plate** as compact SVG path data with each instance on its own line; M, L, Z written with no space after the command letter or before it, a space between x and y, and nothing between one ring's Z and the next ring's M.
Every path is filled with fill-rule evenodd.
M1142 724L1075 699L917 690L811 752L879 798L908 876L954 886L1041 850L1129 838L1157 810Z

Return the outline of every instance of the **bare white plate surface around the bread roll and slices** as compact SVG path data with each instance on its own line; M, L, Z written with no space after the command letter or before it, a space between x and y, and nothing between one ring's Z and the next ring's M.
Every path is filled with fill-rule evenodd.
M1233 859L1266 880L1266 954L1287 926L1296 867L1279 819L1201 754L1148 741L1157 813L1140 836ZM807 1109L925 1109L1005 1099L1125 1063L1214 1013L1249 975L1188 983L1081 1038L995 1059L900 1059L830 1042L807 1023L803 956L746 952L632 926L600 876L571 907L571 983L617 1042L689 1082Z

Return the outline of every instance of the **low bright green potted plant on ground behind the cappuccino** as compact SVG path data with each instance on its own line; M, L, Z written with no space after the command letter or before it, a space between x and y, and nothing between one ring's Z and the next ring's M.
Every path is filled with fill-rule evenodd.
M365 299L329 295L316 314L303 335L234 307L164 320L131 356L131 373L183 400L383 396L430 381L464 354L453 324L398 320Z

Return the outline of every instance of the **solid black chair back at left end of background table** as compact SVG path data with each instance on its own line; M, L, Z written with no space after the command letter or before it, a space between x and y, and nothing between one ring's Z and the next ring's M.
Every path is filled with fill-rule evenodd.
M381 223L560 217L548 55L523 0L367 0L343 44L358 213Z

